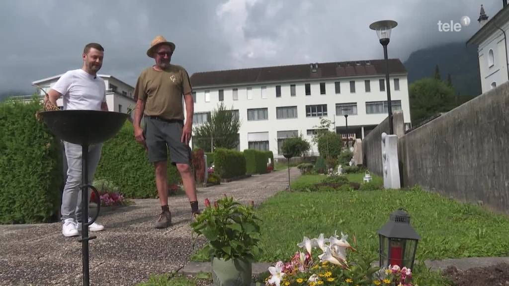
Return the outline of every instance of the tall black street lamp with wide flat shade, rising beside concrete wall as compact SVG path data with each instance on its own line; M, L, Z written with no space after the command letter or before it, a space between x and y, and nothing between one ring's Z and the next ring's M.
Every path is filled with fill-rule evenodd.
M387 106L389 113L389 134L394 134L392 126L392 102L390 101L390 84L389 84L389 61L387 60L387 45L389 44L390 31L393 27L397 26L398 23L392 20L382 20L374 22L370 25L371 30L377 32L380 44L383 46L383 54L385 59L385 82L387 86Z

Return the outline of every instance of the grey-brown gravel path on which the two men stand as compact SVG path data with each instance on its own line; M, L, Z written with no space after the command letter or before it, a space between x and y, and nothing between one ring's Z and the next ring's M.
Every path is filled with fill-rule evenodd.
M291 170L291 177L299 172ZM260 204L288 184L288 173L276 171L199 189L200 207L223 193L241 203ZM170 198L174 225L153 228L160 212L157 199L105 210L98 221L106 230L90 241L91 285L134 285L150 274L182 268L194 252L190 207L185 195ZM0 285L81 285L81 243L62 236L60 223L0 225Z

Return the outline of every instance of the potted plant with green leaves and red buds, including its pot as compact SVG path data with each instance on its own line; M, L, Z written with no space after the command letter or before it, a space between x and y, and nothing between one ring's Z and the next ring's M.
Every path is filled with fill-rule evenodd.
M216 286L249 286L251 263L260 251L259 218L253 204L244 206L224 195L191 223L193 231L208 240L212 257L212 278Z

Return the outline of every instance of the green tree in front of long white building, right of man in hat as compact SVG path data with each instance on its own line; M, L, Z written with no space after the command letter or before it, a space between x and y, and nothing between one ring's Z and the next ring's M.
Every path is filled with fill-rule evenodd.
M214 148L235 149L238 145L240 124L235 113L221 102L206 123L193 128L194 145L206 152L213 152L211 142Z

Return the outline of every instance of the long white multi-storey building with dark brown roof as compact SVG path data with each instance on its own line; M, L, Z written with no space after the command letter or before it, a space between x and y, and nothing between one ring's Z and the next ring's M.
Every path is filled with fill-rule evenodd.
M389 60L392 110L403 110L410 128L407 71ZM271 150L282 157L282 140L302 134L312 143L322 118L343 137L363 138L387 118L384 60L304 64L199 72L191 76L193 124L223 102L241 121L239 150ZM331 130L334 127L331 127Z

